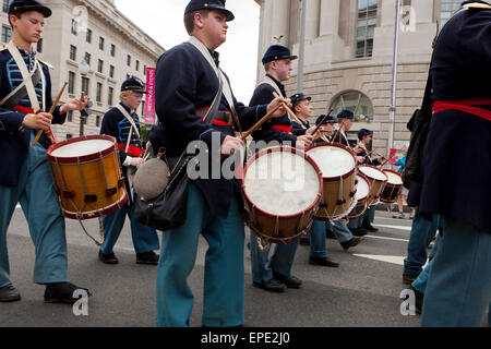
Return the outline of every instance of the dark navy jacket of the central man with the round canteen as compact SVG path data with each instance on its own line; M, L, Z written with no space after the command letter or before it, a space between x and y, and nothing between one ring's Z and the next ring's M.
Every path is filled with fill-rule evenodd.
M233 136L231 127L205 124L195 112L209 107L217 91L218 79L214 70L192 44L184 43L165 52L156 70L155 108L160 125L149 134L154 152L163 146L167 156L180 156L192 141L201 140L212 149L212 134L219 136L220 144L227 135ZM267 106L248 108L235 98L233 104L242 131L266 115ZM225 97L219 109L230 111ZM240 191L239 182L224 178L197 179L194 182L211 215L226 217L231 194Z

